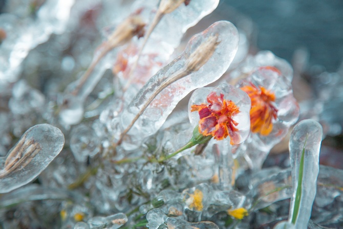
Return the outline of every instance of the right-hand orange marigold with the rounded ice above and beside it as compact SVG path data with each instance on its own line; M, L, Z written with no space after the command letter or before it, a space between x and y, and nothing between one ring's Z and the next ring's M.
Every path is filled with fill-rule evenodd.
M251 99L252 133L268 136L274 130L275 123L296 121L298 105L293 97L291 85L275 67L260 67L239 82L238 87ZM277 129L276 131L279 131Z

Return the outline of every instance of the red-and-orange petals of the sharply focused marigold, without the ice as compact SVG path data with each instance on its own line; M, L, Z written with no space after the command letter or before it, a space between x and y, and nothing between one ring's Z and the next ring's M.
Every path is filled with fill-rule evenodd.
M191 106L191 112L199 112L199 132L204 136L212 135L217 140L230 136L231 144L239 142L238 122L232 119L240 113L239 107L233 101L224 99L222 93L218 96L216 92L207 96L207 102L209 105L202 103Z

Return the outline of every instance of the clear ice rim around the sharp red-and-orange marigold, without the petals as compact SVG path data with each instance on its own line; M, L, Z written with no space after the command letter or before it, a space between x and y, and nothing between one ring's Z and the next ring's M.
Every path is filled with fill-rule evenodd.
M213 88L199 88L190 97L188 102L188 117L192 126L197 126L199 123L198 112L190 112L192 105L201 105L207 102L207 95L211 92L216 92L218 96L222 93L224 99L231 100L239 107L240 113L233 116L233 120L238 122L238 126L235 126L239 130L240 140L237 144L242 143L250 133L250 107L251 102L249 96L242 90L237 89L229 84L221 84L220 86Z

